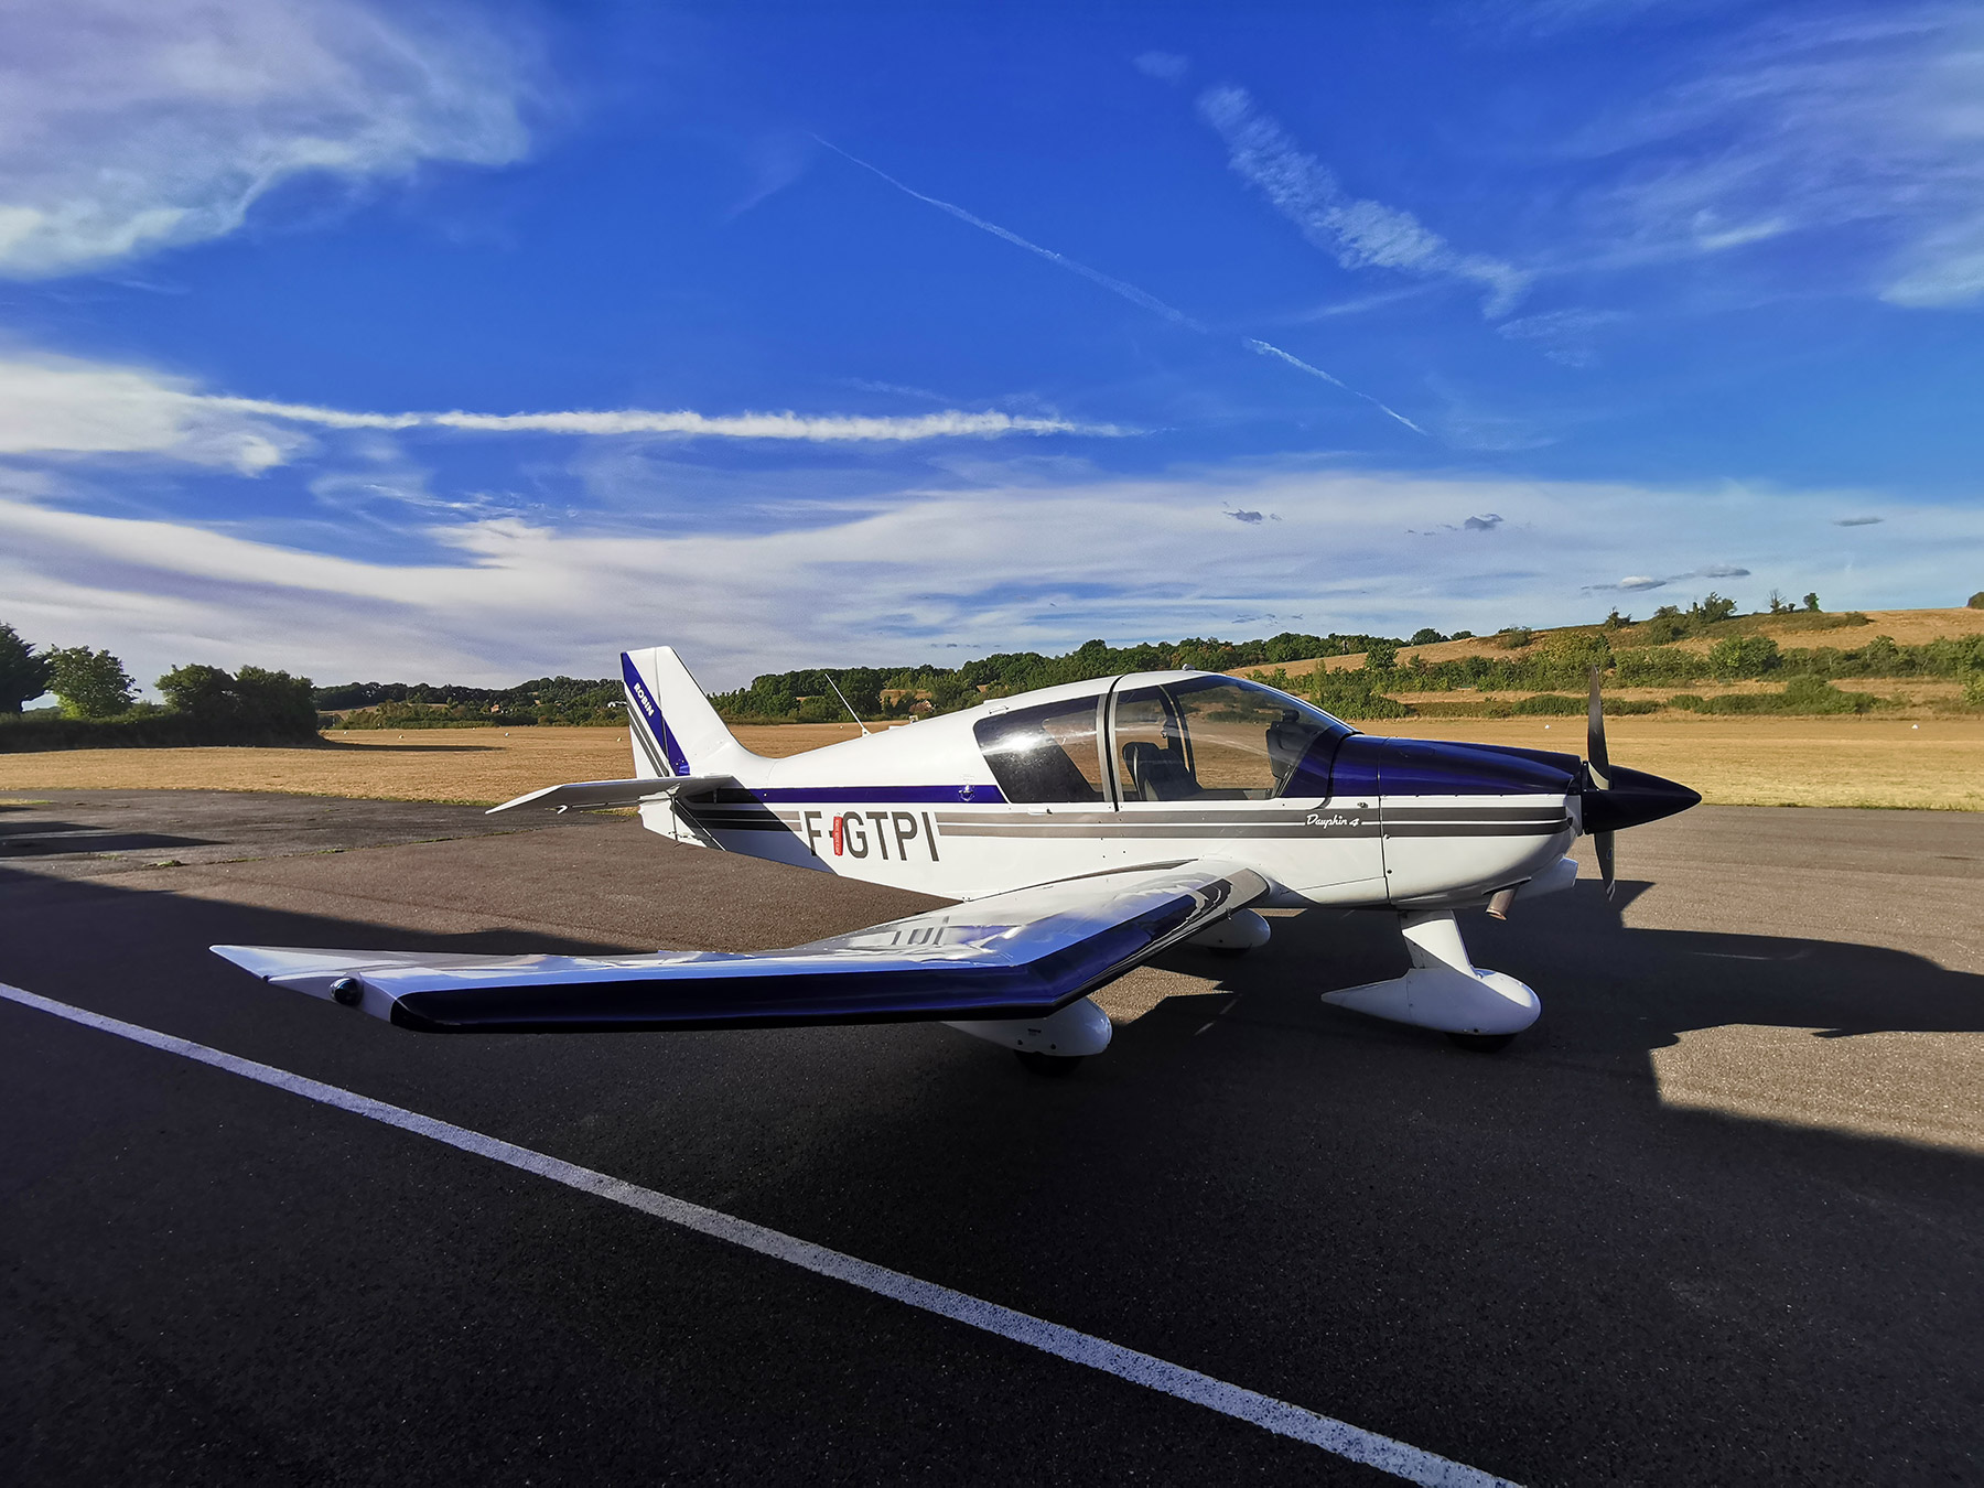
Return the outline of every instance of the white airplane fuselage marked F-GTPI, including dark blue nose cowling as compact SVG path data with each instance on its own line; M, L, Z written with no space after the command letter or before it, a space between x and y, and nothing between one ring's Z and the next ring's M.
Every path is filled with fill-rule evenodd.
M641 815L677 841L946 899L1224 859L1282 907L1440 907L1555 865L1583 784L1569 754L1377 738L1260 682L1184 671L760 760L736 788Z

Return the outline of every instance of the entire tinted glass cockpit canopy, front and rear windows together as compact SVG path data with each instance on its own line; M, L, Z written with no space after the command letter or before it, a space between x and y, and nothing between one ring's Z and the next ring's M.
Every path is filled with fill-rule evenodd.
M978 722L972 732L1006 800L1321 798L1337 744L1355 732L1302 698L1240 677L1125 682Z

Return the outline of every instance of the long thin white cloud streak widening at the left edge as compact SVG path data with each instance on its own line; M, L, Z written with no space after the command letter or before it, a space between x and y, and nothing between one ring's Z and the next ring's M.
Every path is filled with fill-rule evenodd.
M1010 413L909 417L613 409L561 413L353 413L200 393L183 377L62 357L0 357L0 454L153 454L258 474L310 446L304 429L450 429L506 434L677 434L806 442L911 442L998 434L1127 434L1115 425Z

